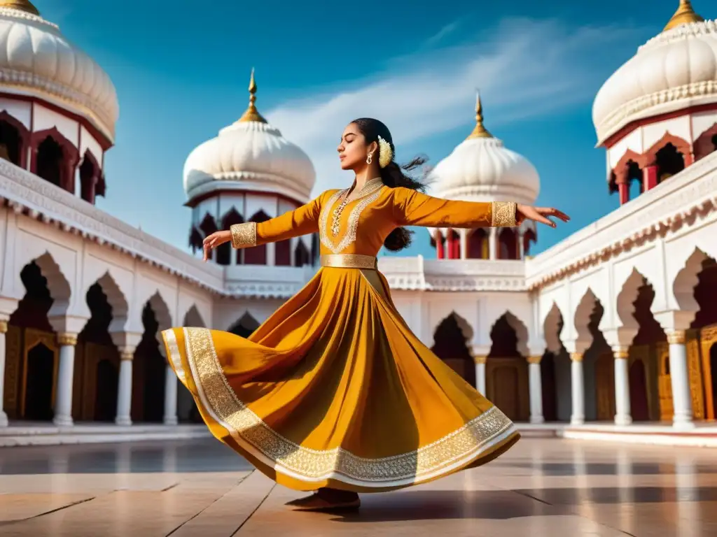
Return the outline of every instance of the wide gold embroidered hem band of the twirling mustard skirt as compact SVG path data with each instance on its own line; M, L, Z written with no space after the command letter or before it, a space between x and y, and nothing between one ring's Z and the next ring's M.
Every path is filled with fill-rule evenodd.
M163 331L163 337L173 354L171 362L181 362L174 330ZM511 420L491 407L440 440L401 455L368 459L342 448L305 448L272 430L239 400L224 375L209 329L184 328L184 338L199 400L214 420L263 463L299 480L334 478L373 488L419 483L470 463L516 434Z

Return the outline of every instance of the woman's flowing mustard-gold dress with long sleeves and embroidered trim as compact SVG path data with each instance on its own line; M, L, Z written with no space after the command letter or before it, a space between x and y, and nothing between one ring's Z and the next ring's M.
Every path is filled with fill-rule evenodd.
M232 226L237 248L318 231L322 266L246 339L165 330L174 371L215 437L296 490L379 492L492 460L518 440L515 426L411 332L375 256L397 226L514 226L515 204L372 180L336 224L346 192Z

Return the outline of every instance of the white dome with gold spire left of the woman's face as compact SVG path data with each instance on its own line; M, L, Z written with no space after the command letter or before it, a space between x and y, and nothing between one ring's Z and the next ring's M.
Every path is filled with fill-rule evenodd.
M250 92L241 119L189 154L184 164L187 197L214 190L258 190L306 203L316 180L311 160L257 112L253 72Z

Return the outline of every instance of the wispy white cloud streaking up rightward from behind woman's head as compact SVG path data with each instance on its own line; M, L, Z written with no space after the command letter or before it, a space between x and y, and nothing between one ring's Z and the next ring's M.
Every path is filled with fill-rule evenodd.
M314 192L320 193L350 180L338 175L336 145L354 118L386 123L400 153L401 145L429 145L432 135L469 126L477 87L489 128L589 105L599 84L627 59L606 57L606 49L635 43L637 34L630 28L511 19L470 44L389 59L374 77L343 91L319 89L312 99L287 102L267 117L313 160ZM434 163L445 156L430 155L429 147L424 152Z

